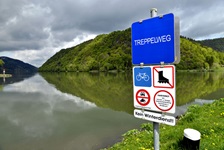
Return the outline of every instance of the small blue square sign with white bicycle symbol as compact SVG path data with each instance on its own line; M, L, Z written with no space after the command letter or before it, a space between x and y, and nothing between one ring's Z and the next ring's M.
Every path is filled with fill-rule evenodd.
M150 67L135 67L134 73L134 85L135 86L143 86L143 87L151 87L152 86L152 78L151 78L151 68Z

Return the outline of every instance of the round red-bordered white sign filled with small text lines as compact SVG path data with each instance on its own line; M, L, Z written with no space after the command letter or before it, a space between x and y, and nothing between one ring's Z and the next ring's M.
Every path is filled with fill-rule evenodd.
M159 110L169 111L173 108L174 99L169 92L160 90L154 96L154 103Z

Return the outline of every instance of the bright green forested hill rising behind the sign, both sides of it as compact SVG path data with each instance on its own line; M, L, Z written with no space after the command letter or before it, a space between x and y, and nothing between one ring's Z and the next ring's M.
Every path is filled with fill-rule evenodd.
M224 53L181 37L181 61L177 69L217 69L224 64ZM47 60L39 71L130 70L131 29L98 35L75 47L62 49Z

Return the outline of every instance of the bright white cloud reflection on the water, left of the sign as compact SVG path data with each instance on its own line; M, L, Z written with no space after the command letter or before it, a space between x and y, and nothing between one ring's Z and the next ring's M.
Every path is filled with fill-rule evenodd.
M35 95L35 98L38 98L38 101L47 103L49 105L49 107L46 108L49 110L52 110L53 106L57 105L57 103L62 103L63 101L71 101L72 103L76 104L76 111L79 110L79 108L83 110L86 108L96 107L94 103L85 101L71 94L62 93L61 91L54 88L53 85L49 86L49 84L39 75L23 82L6 85L3 89L3 92L11 94L20 93L20 95L28 96L28 98L26 98L28 101L32 100L29 95ZM41 95L41 97L38 97L38 95ZM21 101L23 100L24 99L21 99ZM68 109L69 107L65 106L65 108Z

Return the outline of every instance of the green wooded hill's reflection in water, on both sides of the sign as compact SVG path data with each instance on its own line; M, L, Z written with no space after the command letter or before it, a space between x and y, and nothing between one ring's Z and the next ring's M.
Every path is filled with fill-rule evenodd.
M57 89L95 103L99 107L133 113L131 73L41 73ZM224 88L224 73L176 75L176 105L180 106Z

